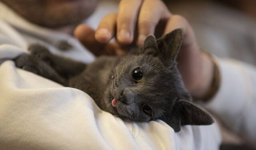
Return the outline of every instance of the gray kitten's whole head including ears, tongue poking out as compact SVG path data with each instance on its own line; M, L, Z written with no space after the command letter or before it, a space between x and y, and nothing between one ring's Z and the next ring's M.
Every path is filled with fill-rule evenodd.
M150 35L142 49L122 57L105 92L108 111L136 122L160 119L176 132L181 125L212 124L212 117L190 102L177 69L182 39L182 29L158 40Z

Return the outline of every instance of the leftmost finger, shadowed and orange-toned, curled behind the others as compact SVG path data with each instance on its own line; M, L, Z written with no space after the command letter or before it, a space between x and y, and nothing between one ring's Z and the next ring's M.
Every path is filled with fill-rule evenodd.
M94 38L95 31L85 24L76 27L74 36L94 55L114 55L114 47L111 43L102 44Z

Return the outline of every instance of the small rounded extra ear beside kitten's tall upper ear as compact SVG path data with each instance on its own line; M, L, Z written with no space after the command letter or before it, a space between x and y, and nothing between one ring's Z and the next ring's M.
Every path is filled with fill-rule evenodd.
M158 52L158 47L156 43L156 38L153 34L147 36L144 41L143 53L156 55Z

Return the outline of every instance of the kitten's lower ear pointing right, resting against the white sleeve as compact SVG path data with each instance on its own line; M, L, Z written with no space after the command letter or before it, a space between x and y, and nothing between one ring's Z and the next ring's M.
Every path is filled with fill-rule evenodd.
M170 118L163 121L175 132L179 132L182 125L210 125L214 122L210 114L186 100L177 101Z

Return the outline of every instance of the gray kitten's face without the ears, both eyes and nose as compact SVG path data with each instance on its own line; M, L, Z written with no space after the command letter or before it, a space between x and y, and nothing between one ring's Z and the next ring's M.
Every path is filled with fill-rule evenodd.
M157 57L128 55L115 70L106 99L109 109L121 118L137 122L164 118L170 115L175 100L182 97L178 87L183 85L176 66L168 69ZM140 80L138 71L142 74ZM115 107L113 99L117 100Z

